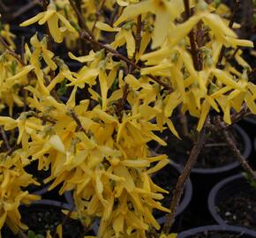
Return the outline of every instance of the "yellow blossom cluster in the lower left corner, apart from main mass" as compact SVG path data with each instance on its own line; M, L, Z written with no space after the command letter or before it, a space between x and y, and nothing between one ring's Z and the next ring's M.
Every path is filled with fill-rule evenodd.
M25 190L29 184L38 185L32 175L24 170L28 162L21 151L14 152L11 156L0 153L0 230L4 223L15 234L19 229L26 229L26 225L20 221L19 205L29 205L40 198Z

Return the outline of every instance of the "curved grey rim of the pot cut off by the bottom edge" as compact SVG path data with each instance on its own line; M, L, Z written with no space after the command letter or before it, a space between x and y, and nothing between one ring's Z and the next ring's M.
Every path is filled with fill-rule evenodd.
M212 226L204 226L204 227L195 227L189 230L186 230L184 232L181 232L177 235L177 238L189 238L189 235L191 234L198 234L200 232L203 232L205 230L208 231L230 231L230 232L241 232L244 234L252 235L252 237L256 237L256 232L253 230L250 230L245 227L236 227L236 226L222 226L222 225L212 225Z

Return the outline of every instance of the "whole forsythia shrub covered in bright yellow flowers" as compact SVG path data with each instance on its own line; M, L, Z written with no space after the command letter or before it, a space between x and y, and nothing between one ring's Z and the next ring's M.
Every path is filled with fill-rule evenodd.
M212 110L228 124L230 111L244 105L256 114L256 86L241 48L253 44L238 39L222 18L229 14L225 5L190 1L193 15L186 18L181 0L100 2L99 15L98 1L81 1L81 23L73 1L50 1L20 25L45 25L50 33L34 34L21 63L0 48L0 110L10 115L0 116L0 125L7 133L19 130L17 149L0 154L0 228L4 222L16 233L26 228L18 207L36 197L20 189L34 182L23 167L38 160L39 170L50 167L49 190L62 184L60 194L73 191L73 219L86 227L100 219L97 237L146 237L151 227L160 229L153 210L169 212L161 205L167 191L151 179L169 163L150 151L150 141L166 145L154 131L168 127L180 138L171 121L177 107L199 118L197 130ZM189 49L192 29L201 33L198 64ZM8 26L1 35L15 49ZM81 63L79 71L53 52L51 37L67 48L87 47L82 56L84 50L68 53ZM225 57L219 67L222 46L229 49L226 58L237 51L239 70ZM26 111L12 116L24 105Z

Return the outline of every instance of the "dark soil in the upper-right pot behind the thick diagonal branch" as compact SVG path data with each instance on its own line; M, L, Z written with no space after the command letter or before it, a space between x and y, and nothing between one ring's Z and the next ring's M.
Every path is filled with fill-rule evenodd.
M231 130L237 142L240 151L243 152L244 145L239 140L235 130ZM193 142L190 139L178 140L170 132L166 130L163 133L163 139L167 142L167 146L162 146L158 149L158 153L166 153L170 160L175 161L177 164L184 165L188 159L189 152L192 149ZM195 167L198 168L215 168L223 167L235 161L235 158L226 144L221 133L207 134L207 141L200 152L199 158Z

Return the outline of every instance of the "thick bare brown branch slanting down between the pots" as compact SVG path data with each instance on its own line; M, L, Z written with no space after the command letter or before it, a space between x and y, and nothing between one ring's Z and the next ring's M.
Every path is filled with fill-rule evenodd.
M192 151L190 152L189 159L187 160L184 166L184 170L182 171L181 175L178 177L176 187L173 191L173 197L171 199L171 204L169 208L170 212L169 214L166 215L165 223L162 228L162 231L164 234L169 234L170 227L173 225L175 221L177 206L179 204L180 198L184 191L185 183L187 182L188 177L191 174L192 167L194 167L196 160L198 159L198 156L200 154L200 151L205 144L205 141L206 141L206 132L205 132L205 126L204 126L204 128L199 133L199 137L197 141L192 147Z

